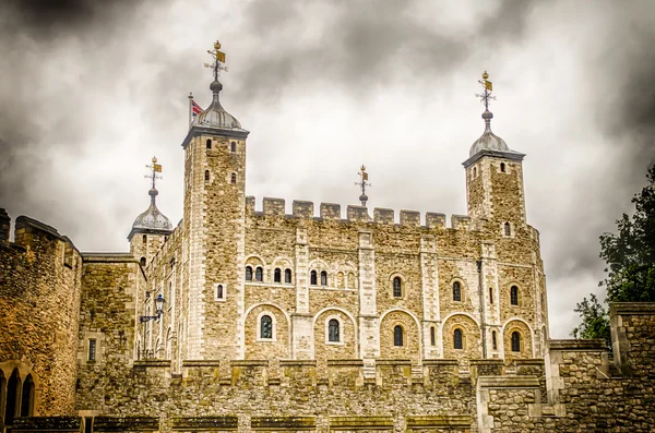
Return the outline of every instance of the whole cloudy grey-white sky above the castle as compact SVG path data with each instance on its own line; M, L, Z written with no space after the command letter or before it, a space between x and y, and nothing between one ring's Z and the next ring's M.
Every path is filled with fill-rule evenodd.
M638 1L10 0L0 7L0 207L82 251L127 251L164 166L159 208L182 216L189 92L251 131L247 193L290 202L359 195L371 207L464 214L461 163L493 131L524 163L541 233L551 334L602 292L598 237L655 161L655 3ZM396 214L397 218L397 214Z

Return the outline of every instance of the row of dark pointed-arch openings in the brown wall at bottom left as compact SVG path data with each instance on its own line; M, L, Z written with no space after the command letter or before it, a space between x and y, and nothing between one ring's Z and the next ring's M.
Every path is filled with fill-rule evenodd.
M35 386L32 374L21 383L19 369L14 369L9 381L0 371L0 416L4 425L12 425L19 417L34 414Z

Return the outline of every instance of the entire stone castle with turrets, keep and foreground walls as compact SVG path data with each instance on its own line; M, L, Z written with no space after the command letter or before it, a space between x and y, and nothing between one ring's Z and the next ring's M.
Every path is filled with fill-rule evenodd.
M485 76L485 82L486 82ZM655 305L602 341L548 339L524 155L485 131L467 215L246 195L249 131L191 123L183 218L156 206L130 252L85 253L0 211L0 419L12 432L655 429ZM421 224L424 222L424 224ZM626 430L623 430L626 429Z

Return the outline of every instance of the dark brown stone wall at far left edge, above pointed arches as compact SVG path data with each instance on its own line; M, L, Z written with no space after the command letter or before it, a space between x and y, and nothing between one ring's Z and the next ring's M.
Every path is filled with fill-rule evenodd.
M3 209L0 214L7 215ZM33 413L74 413L82 260L57 230L21 216L0 239L0 384L35 383ZM4 393L0 389L0 394ZM2 400L0 398L0 400ZM0 401L2 405L7 401ZM0 418L4 417L4 411Z

